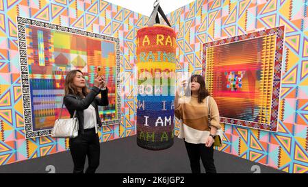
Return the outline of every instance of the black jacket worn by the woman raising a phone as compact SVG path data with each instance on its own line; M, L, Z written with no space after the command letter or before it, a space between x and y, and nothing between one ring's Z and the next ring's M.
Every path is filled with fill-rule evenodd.
M97 97L99 92L101 92L101 98ZM86 110L89 105L92 105L95 108L95 112L97 113L97 123L99 124L99 127L101 127L98 105L109 105L108 88L106 88L106 90L101 90L94 86L84 99L81 99L81 97L77 95L68 94L64 96L64 105L68 112L70 112L70 118L73 117L75 110L77 110L76 117L79 121L79 133L84 134L84 110Z

